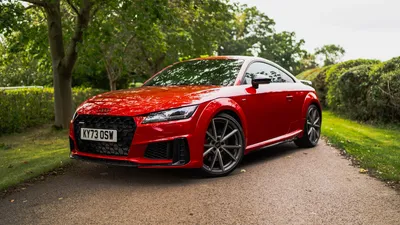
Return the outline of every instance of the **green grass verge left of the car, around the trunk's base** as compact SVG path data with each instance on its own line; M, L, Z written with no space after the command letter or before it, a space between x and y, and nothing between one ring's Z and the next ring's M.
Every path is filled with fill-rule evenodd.
M69 163L68 131L46 125L0 137L0 190Z

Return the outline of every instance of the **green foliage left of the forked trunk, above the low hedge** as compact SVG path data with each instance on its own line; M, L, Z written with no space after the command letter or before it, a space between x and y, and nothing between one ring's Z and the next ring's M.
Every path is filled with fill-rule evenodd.
M14 2L0 7L0 86L51 85L45 13Z

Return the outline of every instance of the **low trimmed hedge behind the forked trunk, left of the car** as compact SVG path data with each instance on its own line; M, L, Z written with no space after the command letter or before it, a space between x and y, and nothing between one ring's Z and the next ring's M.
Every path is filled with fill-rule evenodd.
M104 92L99 89L73 88L73 106ZM27 127L54 120L52 88L32 88L0 91L0 135L19 132Z

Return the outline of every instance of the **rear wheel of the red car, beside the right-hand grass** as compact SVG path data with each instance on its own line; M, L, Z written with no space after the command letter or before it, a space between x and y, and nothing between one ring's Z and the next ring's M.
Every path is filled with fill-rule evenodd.
M296 139L294 143L300 148L311 148L317 145L321 136L321 113L316 105L310 105L304 124L303 137Z

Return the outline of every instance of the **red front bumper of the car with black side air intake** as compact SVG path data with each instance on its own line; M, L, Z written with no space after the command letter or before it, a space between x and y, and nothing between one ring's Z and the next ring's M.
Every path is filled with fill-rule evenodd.
M200 168L203 164L202 146L205 132L200 132L197 127L198 117L199 115L195 114L186 120L153 124L142 124L141 122L144 117L132 117L136 126L129 151L123 154L88 151L88 146L93 147L93 145L85 146L86 148L83 150L79 134L75 135L79 132L79 127L77 129L79 125L71 121L69 135L70 157L73 159L140 168Z

